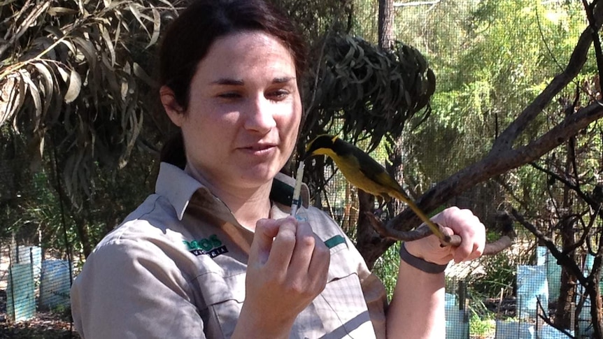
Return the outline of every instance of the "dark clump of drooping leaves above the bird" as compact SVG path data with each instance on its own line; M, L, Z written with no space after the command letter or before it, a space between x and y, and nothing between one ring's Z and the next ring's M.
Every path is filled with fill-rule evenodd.
M329 34L306 91L302 134L329 131L357 142L370 138L369 151L384 137L398 138L406 121L425 108L436 79L423 55L401 42L381 50L357 36Z

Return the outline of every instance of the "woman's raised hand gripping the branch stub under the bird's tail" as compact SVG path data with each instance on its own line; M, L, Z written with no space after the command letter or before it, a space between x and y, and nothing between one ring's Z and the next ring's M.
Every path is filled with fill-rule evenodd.
M448 234L456 234L462 238L459 246L442 247L436 236L428 236L420 240L407 241L406 250L415 257L434 264L448 264L476 259L483 253L485 246L485 227L471 210L457 207L446 208L436 216L433 222L440 224Z

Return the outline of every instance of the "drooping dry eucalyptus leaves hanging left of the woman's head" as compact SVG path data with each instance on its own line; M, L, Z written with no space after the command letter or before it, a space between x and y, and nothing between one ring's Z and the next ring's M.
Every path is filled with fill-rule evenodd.
M145 124L153 83L145 69L178 2L0 3L0 133L26 140L29 167L54 168L71 215L91 208L99 168L124 168ZM55 159L45 155L55 155ZM53 172L54 173L54 172ZM94 245L78 219L84 252Z

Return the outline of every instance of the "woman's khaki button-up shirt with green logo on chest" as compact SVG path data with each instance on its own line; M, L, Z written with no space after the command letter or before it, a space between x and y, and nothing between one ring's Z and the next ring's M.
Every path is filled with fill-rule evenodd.
M292 178L278 180L292 192ZM272 218L287 212L273 201ZM324 212L302 206L298 215L330 248L331 264L327 286L299 314L290 338L385 338L381 281ZM220 199L162 163L156 193L101 240L73 282L78 333L83 339L230 338L245 301L252 239Z

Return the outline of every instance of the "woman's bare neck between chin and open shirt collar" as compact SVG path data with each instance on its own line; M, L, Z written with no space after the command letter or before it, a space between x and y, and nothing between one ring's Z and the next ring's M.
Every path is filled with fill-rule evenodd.
M236 221L246 229L254 231L257 220L269 217L272 182L252 188L236 187L218 180L207 180L192 166L187 165L185 171L218 196L232 211Z

